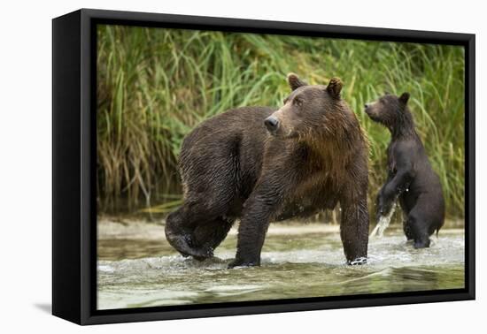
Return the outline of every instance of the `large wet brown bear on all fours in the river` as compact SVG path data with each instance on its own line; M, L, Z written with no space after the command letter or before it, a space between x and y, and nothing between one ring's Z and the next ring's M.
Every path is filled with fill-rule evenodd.
M366 262L367 143L340 97L342 82L308 86L294 74L288 81L292 93L281 109L228 110L184 139L184 203L166 220L166 238L181 254L212 256L240 217L229 267L256 266L270 221L340 202L347 262Z

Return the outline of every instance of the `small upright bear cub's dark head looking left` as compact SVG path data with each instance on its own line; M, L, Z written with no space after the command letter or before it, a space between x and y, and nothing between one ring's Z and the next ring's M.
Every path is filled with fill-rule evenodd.
M386 94L375 102L365 104L368 117L394 132L398 127L412 124L412 116L407 109L409 93L400 96Z

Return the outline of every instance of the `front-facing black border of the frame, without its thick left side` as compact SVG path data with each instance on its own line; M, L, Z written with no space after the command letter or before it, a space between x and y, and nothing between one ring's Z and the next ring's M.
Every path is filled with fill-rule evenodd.
M76 11L81 16L81 101L80 101L80 126L81 126L81 216L79 217L79 237L81 247L79 250L81 258L81 314L80 324L97 324L97 323L121 323L121 322L138 322L150 320L168 320L181 318L195 318L222 315L250 315L250 314L267 314L275 312L292 312L305 310L318 310L329 308L344 307L375 307L398 304L414 304L439 301L454 300L474 300L475 299L475 34L457 34L457 33L440 33L424 32L414 30L399 30L386 28L368 28L368 27L343 27L315 25L307 23L290 23L277 21L261 21L249 19L221 19L208 17L180 16L173 14L155 14L130 11L101 11L82 9ZM310 32L319 31L320 34L336 36L336 38L356 38L370 39L380 41L394 42L437 42L444 44L463 45L466 49L466 289L462 291L450 292L416 292L414 295L399 295L390 293L388 296L381 295L355 295L352 298L336 298L332 300L307 301L294 300L286 303L286 300L273 300L268 305L259 305L258 302L231 303L228 305L196 305L192 309L165 310L165 307L151 308L134 308L122 309L118 314L107 314L102 310L96 309L96 172L93 161L93 152L96 153L96 118L92 112L96 108L93 99L96 96L96 87L92 83L94 78L93 60L95 59L96 49L92 44L91 35L93 34L96 22L103 21L126 21L135 22L135 25L158 24L175 24L190 25L191 27L204 28L234 28L250 27L252 30L267 32L280 31L283 34L291 32L300 32L309 34ZM270 30L269 30L270 29ZM54 64L53 64L54 71ZM53 95L54 95L53 91ZM54 119L53 119L54 121ZM95 126L94 126L95 125ZM54 131L54 129L53 129ZM467 138L468 132L468 138ZM54 143L53 143L54 145ZM96 156L95 156L96 158ZM53 163L59 163L54 161ZM53 195L54 196L54 195ZM54 210L54 207L53 207ZM54 231L53 231L54 233ZM93 238L95 236L95 238ZM54 242L54 239L53 239ZM54 255L54 254L53 254ZM54 273L54 272L53 272ZM54 286L53 286L54 289ZM251 305L253 304L253 305ZM95 308L94 308L95 306ZM73 320L72 320L73 321Z

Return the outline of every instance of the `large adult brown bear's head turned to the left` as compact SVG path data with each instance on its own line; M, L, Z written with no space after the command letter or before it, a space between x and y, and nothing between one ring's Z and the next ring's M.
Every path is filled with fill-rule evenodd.
M279 110L265 119L264 124L273 136L306 139L319 134L336 134L347 123L351 111L344 108L340 97L342 81L333 78L328 86L307 85L296 74L288 75L291 94Z

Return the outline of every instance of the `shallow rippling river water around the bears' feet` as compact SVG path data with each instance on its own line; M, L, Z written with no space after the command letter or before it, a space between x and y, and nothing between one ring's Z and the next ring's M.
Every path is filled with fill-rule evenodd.
M177 254L163 234L98 240L98 309L464 287L460 229L442 230L431 247L416 250L390 228L370 239L367 265L347 266L337 227L271 224L261 266L237 269L227 269L235 231L205 262Z

